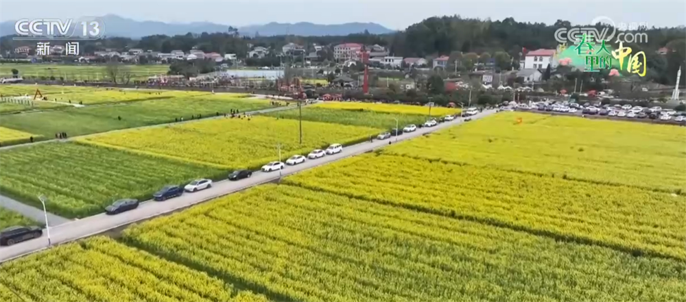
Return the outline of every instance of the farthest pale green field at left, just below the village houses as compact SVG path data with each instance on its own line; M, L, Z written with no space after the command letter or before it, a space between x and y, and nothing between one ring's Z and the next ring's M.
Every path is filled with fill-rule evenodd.
M0 64L0 77L12 77L12 69L19 71L21 77L60 77L65 80L76 81L97 81L108 80L108 75L104 65L98 64ZM130 73L131 79L145 80L153 75L166 75L169 65L124 65L121 66L120 73Z

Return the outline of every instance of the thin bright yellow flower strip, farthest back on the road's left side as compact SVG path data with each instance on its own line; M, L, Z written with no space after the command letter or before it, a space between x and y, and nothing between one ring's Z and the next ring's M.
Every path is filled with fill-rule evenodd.
M374 112L386 112L396 114L421 114L429 115L428 106L400 105L388 103L362 103L362 102L324 102L316 103L315 107L344 110L363 110ZM432 107L431 116L443 116L447 114L459 114L460 108Z

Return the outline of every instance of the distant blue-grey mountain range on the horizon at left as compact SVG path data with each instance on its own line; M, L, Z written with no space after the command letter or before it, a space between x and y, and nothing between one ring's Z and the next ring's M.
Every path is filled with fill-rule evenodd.
M143 36L178 34L201 34L202 32L228 32L229 25L222 25L209 22L193 23L164 23L159 21L135 21L129 18L122 18L114 14L100 17L105 23L105 35L108 37L141 38ZM14 23L16 21L5 21L0 23L0 36L14 34ZM370 34L389 34L394 32L377 23L343 23L335 25L322 25L307 22L300 23L268 23L265 25L250 25L239 27L238 32L244 36L281 36L285 34L296 36L346 36L357 34L364 31Z

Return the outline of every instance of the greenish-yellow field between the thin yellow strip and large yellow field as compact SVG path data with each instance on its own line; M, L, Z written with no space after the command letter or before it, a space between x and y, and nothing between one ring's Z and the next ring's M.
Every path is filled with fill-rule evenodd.
M421 124L427 119L427 116L419 114L392 114L368 110L340 110L309 106L303 107L302 110L303 121L365 126L380 130L395 128L396 123L399 125L398 127L402 129L405 127L405 125ZM278 118L291 118L295 120L300 118L300 112L298 112L298 109L270 112L265 115ZM398 120L397 122L396 119Z

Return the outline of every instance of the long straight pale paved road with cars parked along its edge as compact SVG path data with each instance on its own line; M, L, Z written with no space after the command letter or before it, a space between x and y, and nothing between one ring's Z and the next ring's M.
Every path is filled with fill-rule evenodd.
M477 114L472 118L482 118L493 113L495 113L494 110L488 110L480 114ZM427 134L429 132L433 132L439 129L445 129L453 125L459 125L461 123L464 122L461 120L456 120L438 124L436 125L436 127L417 129L412 133L398 136L398 141L416 138L423 134ZM132 210L130 212L124 212L119 215L108 216L106 214L98 214L95 216L90 216L88 218L83 218L78 221L64 223L62 225L50 228L51 241L52 244L60 244L64 242L77 240L80 238L85 238L88 236L93 236L95 234L99 234L110 229L115 229L123 225L128 225L130 223L135 223L147 218L172 212L182 207L195 205L197 203L202 203L203 201L215 199L217 197L237 192L239 190L244 190L252 186L257 186L259 184L264 184L269 181L274 181L276 179L279 179L280 174L281 176L290 175L309 168L321 166L329 162L335 162L336 160L341 160L343 158L348 158L353 155L358 155L365 153L367 151L379 149L381 147L388 146L389 141L394 142L395 137L390 138L390 140L375 140L374 142L363 142L361 144L348 146L344 148L341 153L335 155L327 155L324 158L320 158L318 160L307 160L305 163L298 164L297 166L287 166L285 169L283 169L283 171L275 171L270 173L255 172L252 174L252 177L248 179L241 179L240 181L217 181L213 184L212 188L210 189L202 190L200 192L195 193L186 193L183 194L181 197L169 199L167 201L145 201L144 203L141 203L138 209ZM29 253L34 253L36 251L47 249L47 247L47 233L44 231L43 237L41 238L21 242L11 247L0 247L0 262L4 262L16 257L21 257L22 255L27 255Z

